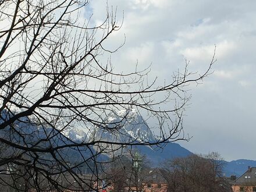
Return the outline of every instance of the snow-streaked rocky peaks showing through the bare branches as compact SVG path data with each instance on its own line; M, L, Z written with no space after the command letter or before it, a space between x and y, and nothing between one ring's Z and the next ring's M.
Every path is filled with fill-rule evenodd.
M112 112L106 118L106 127L94 127L87 131L81 126L63 130L63 134L73 141L105 140L118 143L154 142L157 137L136 109ZM90 134L90 136L88 136Z

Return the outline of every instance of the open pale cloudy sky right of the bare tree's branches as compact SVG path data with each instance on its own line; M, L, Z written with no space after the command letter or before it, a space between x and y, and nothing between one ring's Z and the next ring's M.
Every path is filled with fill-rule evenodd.
M216 65L204 83L193 88L184 126L193 136L180 144L196 153L218 151L227 161L256 159L256 1L108 0L117 6L123 26L109 47L113 65L152 63L152 75L168 79L190 61L190 70L206 69L216 45ZM84 16L100 23L106 1L91 1ZM131 64L132 63L132 64Z

